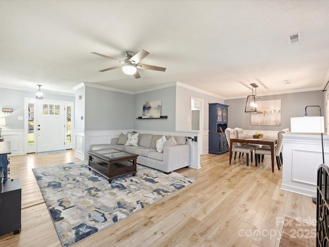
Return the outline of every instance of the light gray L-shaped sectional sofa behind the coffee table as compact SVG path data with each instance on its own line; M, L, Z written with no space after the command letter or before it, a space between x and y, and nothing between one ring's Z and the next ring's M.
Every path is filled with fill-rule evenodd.
M115 148L125 152L138 154L137 163L169 174L171 171L188 167L190 163L190 145L185 136L166 136L163 152L156 150L156 142L162 135L139 134L138 146L125 146L121 133L119 138L113 138L111 144L90 145L90 150ZM171 142L174 138L174 143ZM166 146L166 143L170 146ZM177 144L175 144L177 143Z

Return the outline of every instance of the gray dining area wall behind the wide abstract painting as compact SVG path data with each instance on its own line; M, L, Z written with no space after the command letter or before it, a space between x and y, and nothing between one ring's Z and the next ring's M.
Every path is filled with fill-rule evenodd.
M306 105L319 105L324 116L324 94L321 90L291 94L260 96L261 100L281 99L281 126L251 126L250 113L245 113L246 98L225 100L228 108L228 127L239 127L246 130L281 130L289 128L290 117L302 117ZM318 108L307 108L309 116L319 116Z

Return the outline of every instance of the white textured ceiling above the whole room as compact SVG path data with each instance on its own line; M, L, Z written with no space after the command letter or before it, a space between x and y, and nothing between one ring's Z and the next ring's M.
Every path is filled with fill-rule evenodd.
M74 94L82 82L141 92L181 82L223 99L322 90L329 1L0 1L0 87ZM301 33L301 41L288 37ZM150 52L141 78L91 54ZM289 80L289 84L285 81Z

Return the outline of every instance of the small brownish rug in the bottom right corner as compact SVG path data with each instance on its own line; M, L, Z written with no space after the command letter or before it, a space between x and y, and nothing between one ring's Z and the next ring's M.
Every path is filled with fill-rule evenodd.
M279 247L314 247L316 231L316 222L301 222L286 216Z

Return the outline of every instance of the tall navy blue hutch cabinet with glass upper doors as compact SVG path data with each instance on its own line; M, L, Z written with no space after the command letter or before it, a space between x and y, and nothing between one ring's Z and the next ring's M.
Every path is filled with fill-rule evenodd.
M222 154L230 150L225 135L228 107L220 103L209 104L209 153Z

